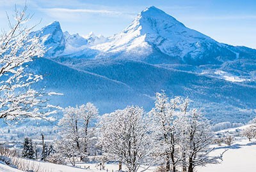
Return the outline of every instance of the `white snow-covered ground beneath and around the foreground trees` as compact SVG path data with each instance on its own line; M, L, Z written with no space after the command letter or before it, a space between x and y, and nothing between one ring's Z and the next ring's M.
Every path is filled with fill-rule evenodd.
M247 125L248 126L248 125ZM234 129L225 129L223 131L219 131L218 133L230 133L236 135L247 126L237 127ZM198 167L196 171L198 172L234 172L234 171L255 171L255 159L256 159L256 140L248 141L245 139L241 139L237 137L238 140L234 141L231 146L227 146L224 143L212 152L214 155L221 154L221 152L227 150L223 155L223 162L221 164L210 164L205 167ZM51 164L49 162L38 162L38 161L31 161L23 159L26 164L33 166L37 166L40 168L42 172L98 172L100 171L99 164L84 164L84 163L77 163L77 168L71 166L63 166L58 164ZM90 169L84 169L88 168ZM123 166L125 169L125 166ZM144 171L147 166L142 166L139 171ZM146 171L155 171L156 167L150 167ZM118 164L106 164L105 169L102 169L102 172L105 171L116 171L118 170ZM0 162L0 171L2 172L20 172L18 169L10 168L5 164Z

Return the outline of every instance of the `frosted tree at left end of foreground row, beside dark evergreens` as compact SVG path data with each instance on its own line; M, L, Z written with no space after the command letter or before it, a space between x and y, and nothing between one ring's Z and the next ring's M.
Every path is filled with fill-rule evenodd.
M99 111L92 103L87 103L76 108L65 108L63 113L63 118L58 123L61 137L72 140L83 159L88 155L88 145L95 133L95 122Z

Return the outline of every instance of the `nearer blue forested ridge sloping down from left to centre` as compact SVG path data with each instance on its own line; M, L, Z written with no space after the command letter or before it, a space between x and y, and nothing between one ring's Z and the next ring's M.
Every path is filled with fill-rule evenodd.
M72 69L45 58L36 59L30 66L36 73L44 75L44 80L36 84L36 88L46 87L49 91L64 94L51 97L52 103L62 107L90 101L102 113L106 113L131 103L148 106L148 97L136 92L129 85L106 76Z

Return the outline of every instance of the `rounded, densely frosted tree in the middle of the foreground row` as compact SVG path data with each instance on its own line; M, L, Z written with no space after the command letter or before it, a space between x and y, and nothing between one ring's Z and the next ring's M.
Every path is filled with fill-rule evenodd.
M124 162L128 171L138 171L152 154L152 130L143 108L127 106L102 117L103 150Z

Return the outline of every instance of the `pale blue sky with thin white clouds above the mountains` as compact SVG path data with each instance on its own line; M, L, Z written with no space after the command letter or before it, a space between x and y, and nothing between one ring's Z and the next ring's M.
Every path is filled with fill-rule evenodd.
M13 14L14 5L24 0L0 0L0 27L6 29L6 11ZM230 45L256 48L255 0L27 0L28 11L34 14L32 24L58 20L63 31L71 34L111 36L122 31L136 15L148 6L156 6L184 25L217 41Z

